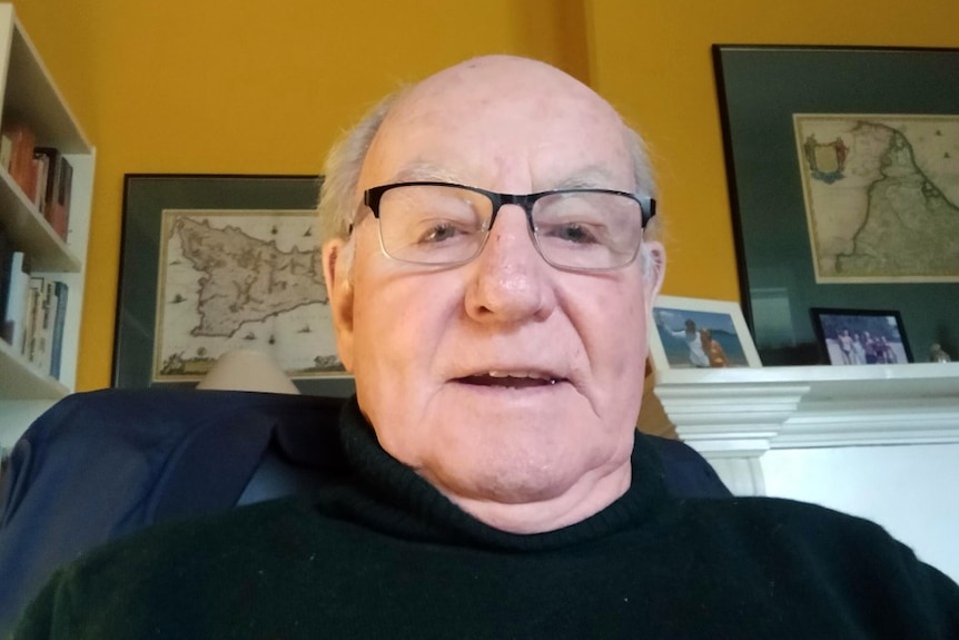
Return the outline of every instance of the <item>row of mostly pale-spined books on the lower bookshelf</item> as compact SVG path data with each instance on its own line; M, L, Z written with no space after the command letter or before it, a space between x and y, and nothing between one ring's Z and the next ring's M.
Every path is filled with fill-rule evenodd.
M7 245L0 229L0 337L41 372L59 378L69 288L32 274L30 257Z

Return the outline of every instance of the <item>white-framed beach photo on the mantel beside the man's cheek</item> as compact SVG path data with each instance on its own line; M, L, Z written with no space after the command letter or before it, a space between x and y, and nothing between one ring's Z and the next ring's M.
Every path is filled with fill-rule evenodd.
M660 296L650 324L653 368L762 366L739 303Z

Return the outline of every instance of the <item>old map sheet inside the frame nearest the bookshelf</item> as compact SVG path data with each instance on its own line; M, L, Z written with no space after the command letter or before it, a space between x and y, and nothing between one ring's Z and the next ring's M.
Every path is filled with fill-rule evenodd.
M312 210L162 211L152 378L200 380L234 349L291 377L344 373Z

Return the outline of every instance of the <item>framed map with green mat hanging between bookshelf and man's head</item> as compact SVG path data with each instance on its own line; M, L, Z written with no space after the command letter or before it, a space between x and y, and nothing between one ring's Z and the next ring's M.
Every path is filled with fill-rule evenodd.
M127 175L113 386L192 386L220 355L253 349L300 391L337 393L330 378L348 376L315 234L320 184Z

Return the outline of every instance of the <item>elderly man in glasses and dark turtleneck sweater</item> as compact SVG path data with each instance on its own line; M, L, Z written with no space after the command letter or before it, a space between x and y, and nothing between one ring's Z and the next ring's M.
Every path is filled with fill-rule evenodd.
M666 494L634 430L652 190L615 111L540 62L385 102L322 205L349 472L93 552L20 637L959 636L959 588L873 524Z

